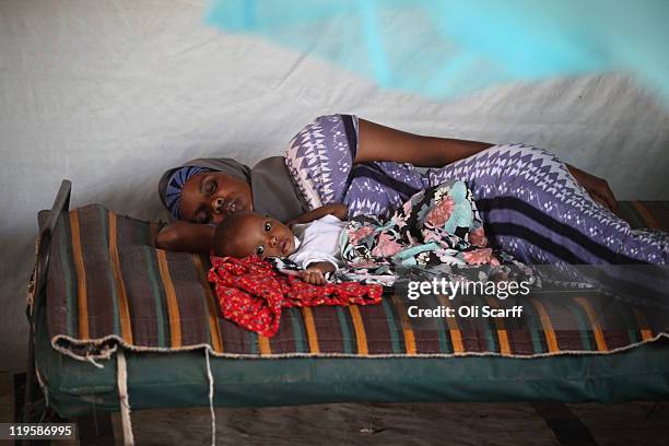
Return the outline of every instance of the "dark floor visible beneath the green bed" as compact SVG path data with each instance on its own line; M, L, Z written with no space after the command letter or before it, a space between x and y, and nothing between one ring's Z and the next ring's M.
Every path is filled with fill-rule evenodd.
M12 422L13 411L13 376L0 373L0 422ZM669 445L667 401L337 403L216 409L215 416L219 445ZM131 419L137 445L211 444L209 408L144 410ZM118 414L111 424L121 445Z

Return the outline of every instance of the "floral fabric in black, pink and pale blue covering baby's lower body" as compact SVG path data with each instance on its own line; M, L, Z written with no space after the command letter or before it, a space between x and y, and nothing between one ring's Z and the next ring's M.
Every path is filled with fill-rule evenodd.
M340 245L349 280L422 267L473 280L535 281L529 267L489 246L471 191L459 180L414 193L387 221L352 218Z

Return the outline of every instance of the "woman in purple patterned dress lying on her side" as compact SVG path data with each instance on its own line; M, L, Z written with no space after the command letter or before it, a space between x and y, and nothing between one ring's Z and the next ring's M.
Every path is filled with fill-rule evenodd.
M349 216L388 216L446 179L467 184L492 245L526 263L669 263L669 235L632 231L612 213L603 179L543 149L423 137L350 115L317 118L284 156L253 168L200 159L167 171L159 191L178 221L159 233L156 246L209 253L215 224L239 210L289 222L344 203Z

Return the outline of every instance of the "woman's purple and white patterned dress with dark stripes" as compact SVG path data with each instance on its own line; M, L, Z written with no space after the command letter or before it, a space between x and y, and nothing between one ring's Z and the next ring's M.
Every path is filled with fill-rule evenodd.
M291 140L286 165L309 207L343 202L351 216L388 216L418 190L459 179L472 190L493 245L526 263L669 263L667 234L632 230L543 149L494 145L426 171L353 164L356 149L357 118L350 115L321 116Z

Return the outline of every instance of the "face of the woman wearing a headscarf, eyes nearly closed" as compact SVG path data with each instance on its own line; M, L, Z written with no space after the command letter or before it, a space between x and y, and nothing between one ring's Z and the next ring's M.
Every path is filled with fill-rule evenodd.
M196 174L181 189L181 218L193 223L221 223L237 211L253 210L248 183L223 172Z

